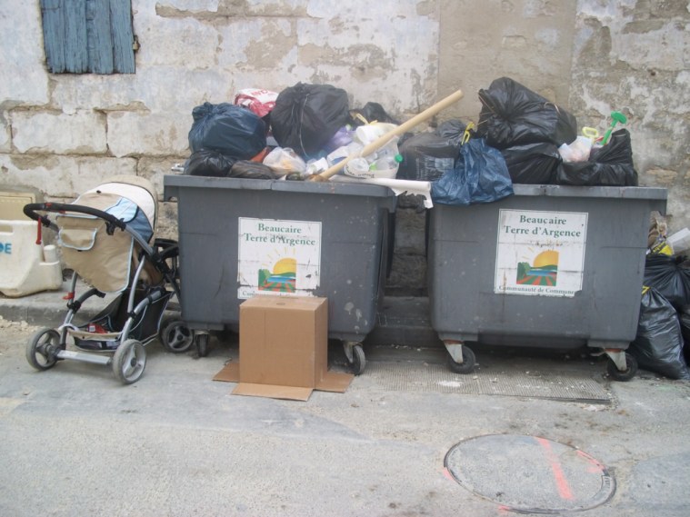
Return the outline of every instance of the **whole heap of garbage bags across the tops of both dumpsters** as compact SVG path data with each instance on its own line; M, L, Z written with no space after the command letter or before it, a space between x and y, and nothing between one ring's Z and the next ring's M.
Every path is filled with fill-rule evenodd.
M185 173L305 179L355 156L341 174L430 182L436 203L461 205L501 199L513 184L637 184L627 130L579 134L573 114L509 77L478 96L476 125L449 120L364 155L400 124L381 104L351 109L333 85L245 89L233 104L195 107Z

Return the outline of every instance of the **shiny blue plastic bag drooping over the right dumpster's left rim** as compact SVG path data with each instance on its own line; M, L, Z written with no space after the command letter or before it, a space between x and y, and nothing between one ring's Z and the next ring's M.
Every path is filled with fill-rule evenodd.
M505 158L484 138L460 147L455 168L431 184L431 199L438 204L491 203L513 194Z

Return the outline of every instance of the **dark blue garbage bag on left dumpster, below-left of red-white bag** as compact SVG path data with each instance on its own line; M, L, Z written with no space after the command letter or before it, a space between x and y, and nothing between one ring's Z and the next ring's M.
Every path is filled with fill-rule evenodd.
M264 121L244 107L204 103L192 110L192 117L194 123L189 130L192 153L212 149L242 160L259 154L266 146Z

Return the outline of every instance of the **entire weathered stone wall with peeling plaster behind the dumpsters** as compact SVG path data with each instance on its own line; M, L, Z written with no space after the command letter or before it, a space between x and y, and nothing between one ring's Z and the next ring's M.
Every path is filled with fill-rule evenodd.
M566 6L564 6L566 5ZM0 184L69 200L112 174L162 192L188 156L191 112L246 87L344 88L405 120L460 88L439 119L476 121L476 92L511 76L605 129L624 110L641 184L669 188L690 226L687 2L622 0L132 0L134 75L50 75L38 0L0 5ZM397 293L424 293L424 213L398 211ZM175 204L159 234L175 236Z

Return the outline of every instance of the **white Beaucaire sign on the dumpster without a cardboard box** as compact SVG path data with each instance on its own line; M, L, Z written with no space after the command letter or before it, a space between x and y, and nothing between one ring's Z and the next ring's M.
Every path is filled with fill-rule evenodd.
M586 236L585 213L500 210L494 293L575 296Z

